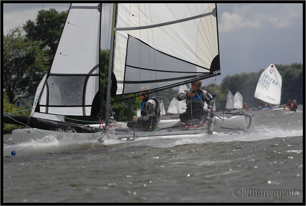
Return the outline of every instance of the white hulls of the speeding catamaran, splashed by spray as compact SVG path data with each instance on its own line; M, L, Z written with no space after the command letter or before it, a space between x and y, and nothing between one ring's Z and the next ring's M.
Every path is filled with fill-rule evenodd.
M48 131L41 129L20 129L12 132L14 145L3 146L4 156L27 156L35 155L42 152L39 145L47 145L43 149L44 152L57 152L56 148L61 147L60 143L48 143L46 138L61 139L69 136L70 140L74 138L82 139L84 145L104 144L100 140L115 140L115 143L144 141L144 140L158 140L158 139L191 139L191 140L209 140L220 136L236 136L244 135L245 131L229 130L228 128L242 128L248 131L255 130L255 124L252 118L252 123L249 125L249 120L246 116L231 116L223 117L224 121L216 117L213 132L211 135L207 134L207 127L192 128L181 130L180 120L161 120L159 123L159 131L155 132L134 132L126 127L126 123L117 122L117 129L114 131L101 131L96 133L74 133L74 132L60 132ZM223 123L223 124L222 124ZM99 127L99 125L91 125L92 127ZM250 127L248 127L250 126ZM169 128L170 127L170 128ZM35 144L29 143L35 142ZM49 145L50 144L50 145ZM68 148L69 150L69 148ZM13 152L13 153L12 153Z

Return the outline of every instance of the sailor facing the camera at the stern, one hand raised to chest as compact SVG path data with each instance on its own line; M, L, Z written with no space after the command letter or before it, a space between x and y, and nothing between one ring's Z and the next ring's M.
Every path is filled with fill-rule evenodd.
M180 114L180 120L187 123L192 119L199 119L200 123L197 127L202 127L204 120L208 116L208 112L204 109L204 101L207 103L207 109L211 111L212 98L207 91L200 89L201 81L191 83L191 89L182 91L177 95L177 100L182 101L186 99L186 112Z

